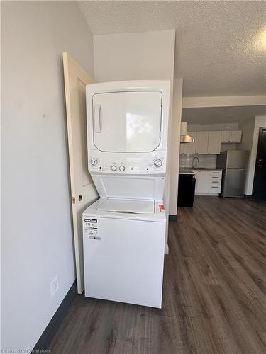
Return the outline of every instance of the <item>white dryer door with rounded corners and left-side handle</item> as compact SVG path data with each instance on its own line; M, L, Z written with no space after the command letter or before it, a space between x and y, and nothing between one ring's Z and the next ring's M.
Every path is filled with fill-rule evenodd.
M94 145L102 152L153 152L160 145L161 120L160 91L93 96Z

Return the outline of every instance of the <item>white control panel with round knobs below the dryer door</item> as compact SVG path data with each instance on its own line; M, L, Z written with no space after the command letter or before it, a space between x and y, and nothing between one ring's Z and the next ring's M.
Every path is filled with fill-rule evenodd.
M125 156L126 155L126 156ZM153 154L103 154L88 152L89 171L118 174L163 174L166 172L165 152Z

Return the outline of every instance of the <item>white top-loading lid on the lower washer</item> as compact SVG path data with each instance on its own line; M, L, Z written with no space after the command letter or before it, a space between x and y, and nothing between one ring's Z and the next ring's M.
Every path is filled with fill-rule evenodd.
M126 214L154 214L155 201L107 198L97 207L97 210Z

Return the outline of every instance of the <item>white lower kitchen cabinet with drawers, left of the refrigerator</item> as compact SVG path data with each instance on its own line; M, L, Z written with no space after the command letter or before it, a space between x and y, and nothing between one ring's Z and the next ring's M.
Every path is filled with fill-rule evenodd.
M195 195L219 195L222 171L193 170L196 173Z

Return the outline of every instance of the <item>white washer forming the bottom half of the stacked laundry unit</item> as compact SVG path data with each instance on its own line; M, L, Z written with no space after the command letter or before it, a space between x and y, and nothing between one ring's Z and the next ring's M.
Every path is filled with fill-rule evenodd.
M159 204L99 199L83 224L85 296L161 307L165 213Z

